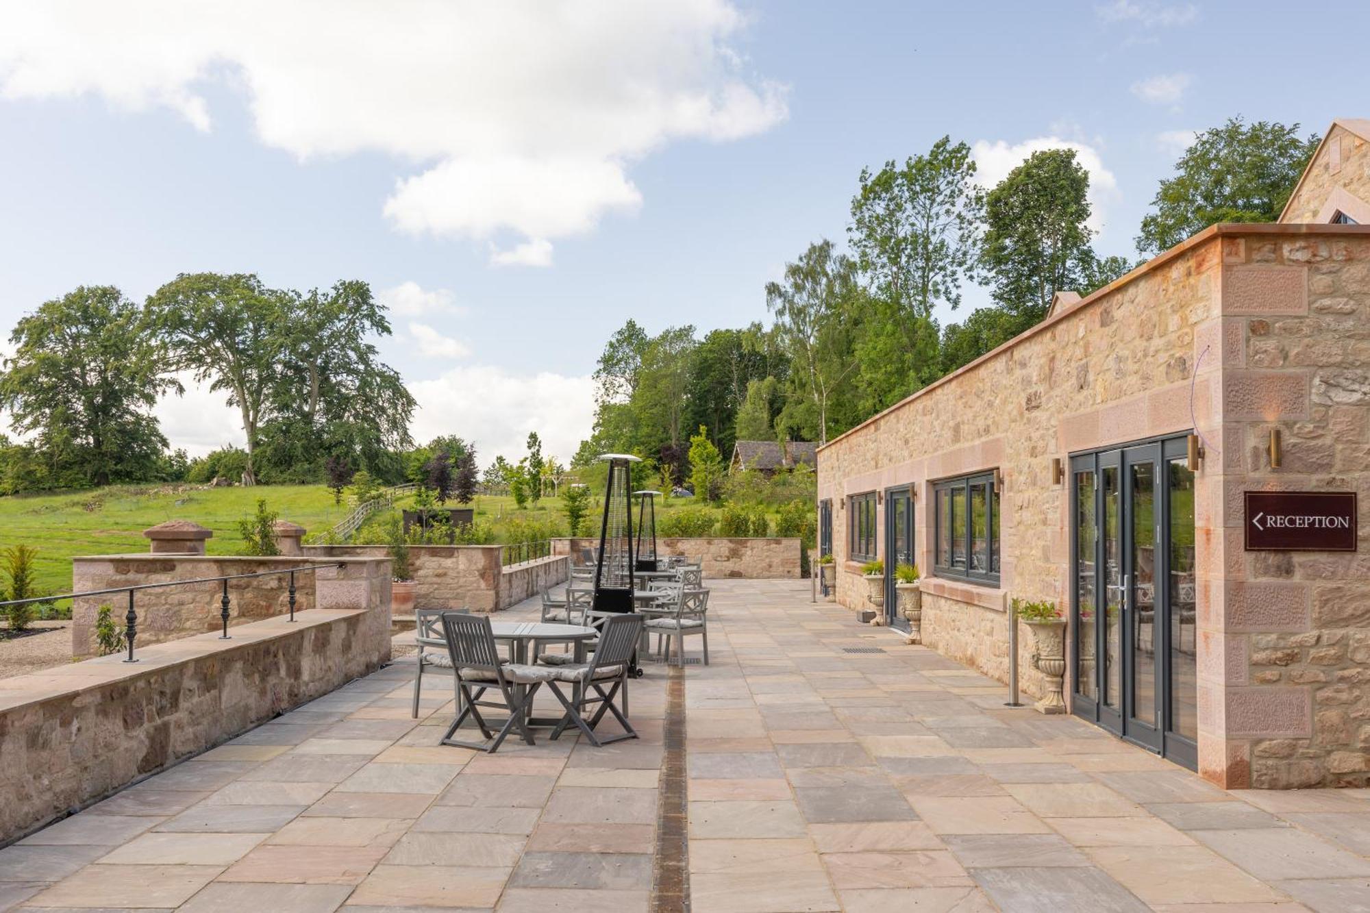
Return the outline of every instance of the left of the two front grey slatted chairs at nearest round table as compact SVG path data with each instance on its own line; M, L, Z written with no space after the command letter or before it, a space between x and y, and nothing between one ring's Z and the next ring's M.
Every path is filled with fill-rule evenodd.
M443 744L460 748L475 748L495 754L506 736L518 728L523 742L533 744L533 733L527 728L527 711L538 687L556 677L556 669L521 662L506 662L495 644L495 631L489 616L467 616L459 611L443 613L443 633L447 637L448 655L452 659L452 673L456 679L458 707L460 713L443 735ZM522 687L519 687L522 685ZM474 694L473 694L474 690ZM481 701L486 691L497 690L501 701ZM504 707L508 718L497 733L481 716L481 707ZM458 742L452 736L471 717L489 744Z

